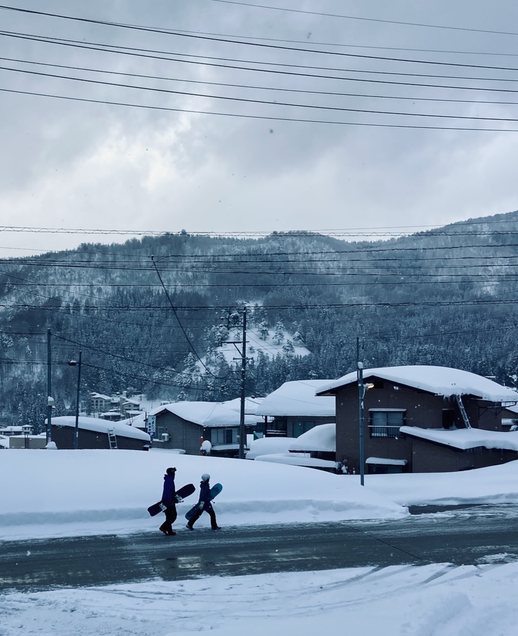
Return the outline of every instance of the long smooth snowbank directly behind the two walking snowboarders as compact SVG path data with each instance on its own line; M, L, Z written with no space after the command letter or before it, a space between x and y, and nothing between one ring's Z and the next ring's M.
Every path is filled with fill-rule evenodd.
M211 483L223 484L215 504L222 525L408 514L343 476L298 466L153 451L10 449L2 451L0 483L15 483L16 488L3 492L0 537L96 534L101 528L155 532L157 520L149 517L147 507L160 499L168 466L177 469L177 487L198 486L202 473L211 474ZM196 496L178 505L180 520ZM27 524L25 529L12 527ZM50 532L41 524L55 524L56 529Z

